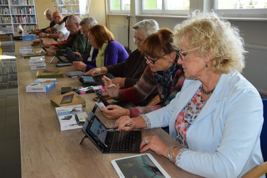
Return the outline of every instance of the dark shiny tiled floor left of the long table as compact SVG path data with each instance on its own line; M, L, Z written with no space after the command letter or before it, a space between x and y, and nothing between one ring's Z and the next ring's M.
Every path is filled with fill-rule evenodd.
M14 65L16 60L0 60L1 178L21 177L18 81Z

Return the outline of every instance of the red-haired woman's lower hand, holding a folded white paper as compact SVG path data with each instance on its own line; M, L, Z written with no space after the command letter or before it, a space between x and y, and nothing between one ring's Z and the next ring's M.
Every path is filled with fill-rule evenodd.
M112 110L107 110L107 109L112 109ZM121 116L130 116L129 109L124 109L117 105L108 105L107 109L105 109L104 107L101 108L103 115L107 119L118 119Z

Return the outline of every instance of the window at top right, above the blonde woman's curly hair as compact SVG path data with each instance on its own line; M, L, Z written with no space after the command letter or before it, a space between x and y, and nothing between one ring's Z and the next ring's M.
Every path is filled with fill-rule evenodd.
M215 0L214 9L229 17L264 17L267 0Z

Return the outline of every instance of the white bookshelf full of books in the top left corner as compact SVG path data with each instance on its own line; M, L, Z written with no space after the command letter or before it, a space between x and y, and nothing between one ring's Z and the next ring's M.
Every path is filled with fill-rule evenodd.
M0 40L14 41L14 34L20 29L30 31L37 25L34 0L0 0Z

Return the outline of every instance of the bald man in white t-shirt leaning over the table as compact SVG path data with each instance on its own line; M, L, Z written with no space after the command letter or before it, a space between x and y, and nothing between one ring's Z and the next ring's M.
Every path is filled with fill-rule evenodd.
M52 20L54 20L55 23L56 23L55 26L46 29L45 31L48 32L47 34L46 33L39 33L39 36L40 37L54 38L54 39L57 38L58 40L67 39L69 34L70 34L70 32L65 27L65 23L63 21L62 14L60 12L58 12L58 11L55 11L52 14L52 16L53 16ZM57 31L57 33L56 34L51 34L54 31Z

